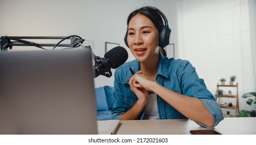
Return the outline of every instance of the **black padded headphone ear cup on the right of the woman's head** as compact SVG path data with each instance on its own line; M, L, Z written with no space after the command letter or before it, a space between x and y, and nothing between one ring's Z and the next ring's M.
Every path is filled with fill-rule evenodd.
M161 32L159 34L159 47L165 48L167 45L170 44L170 34L171 30L168 26L163 25L161 27Z

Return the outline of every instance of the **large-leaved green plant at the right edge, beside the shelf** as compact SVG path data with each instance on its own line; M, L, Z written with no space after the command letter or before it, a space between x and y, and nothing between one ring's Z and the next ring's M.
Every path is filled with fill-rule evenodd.
M238 113L238 117L256 117L256 92L245 93L242 97L248 98L246 103L250 106L254 105L254 110L241 110ZM251 97L254 97L254 99L251 99Z

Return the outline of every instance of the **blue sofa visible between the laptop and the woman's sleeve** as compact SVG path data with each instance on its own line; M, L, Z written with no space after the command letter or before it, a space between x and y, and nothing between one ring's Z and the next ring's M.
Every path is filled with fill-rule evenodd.
M97 120L112 120L114 87L105 85L95 89Z

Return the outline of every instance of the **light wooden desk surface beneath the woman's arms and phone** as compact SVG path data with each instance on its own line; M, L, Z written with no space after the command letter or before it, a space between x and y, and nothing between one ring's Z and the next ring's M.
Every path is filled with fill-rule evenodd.
M206 129L188 119L121 121L115 134L175 134L188 135L190 130ZM256 118L224 118L215 128L226 135L256 134Z

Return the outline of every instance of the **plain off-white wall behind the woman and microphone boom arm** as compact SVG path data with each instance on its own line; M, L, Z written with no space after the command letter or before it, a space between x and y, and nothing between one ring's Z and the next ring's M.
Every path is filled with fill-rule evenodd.
M127 49L127 61L130 61L134 57L124 44L129 13L142 6L158 7L167 16L172 30L172 42L175 42L177 37L173 35L177 33L177 25L174 4L172 1L154 0L0 0L0 36L78 35L94 41L93 52L100 57L105 53L105 41L115 42ZM85 41L84 45L90 44ZM14 47L12 50L20 49ZM97 77L95 87L113 86L113 69L112 73L111 78Z

